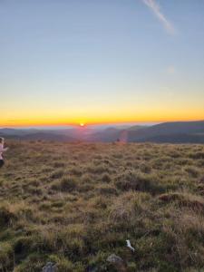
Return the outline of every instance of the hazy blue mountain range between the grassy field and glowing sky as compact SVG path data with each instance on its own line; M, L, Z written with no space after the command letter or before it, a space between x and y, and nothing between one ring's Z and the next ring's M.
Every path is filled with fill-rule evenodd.
M204 143L204 121L163 122L151 126L89 127L61 130L0 129L0 136L18 140L43 141L124 141Z

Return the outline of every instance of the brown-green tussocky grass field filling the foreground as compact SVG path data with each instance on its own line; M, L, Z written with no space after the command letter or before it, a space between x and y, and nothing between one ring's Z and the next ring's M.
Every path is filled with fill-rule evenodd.
M204 271L204 146L8 145L0 272Z

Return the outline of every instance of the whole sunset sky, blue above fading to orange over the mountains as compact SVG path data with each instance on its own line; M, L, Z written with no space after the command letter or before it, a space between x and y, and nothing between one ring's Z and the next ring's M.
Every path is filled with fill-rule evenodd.
M0 0L0 126L204 120L204 1Z

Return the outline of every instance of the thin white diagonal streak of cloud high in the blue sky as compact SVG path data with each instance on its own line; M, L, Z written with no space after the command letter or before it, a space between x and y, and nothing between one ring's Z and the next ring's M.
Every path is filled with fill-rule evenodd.
M164 28L169 34L175 34L175 29L170 21L163 15L160 11L160 5L157 4L155 0L142 0L145 5L147 5L153 14L160 20L160 23L163 24Z

